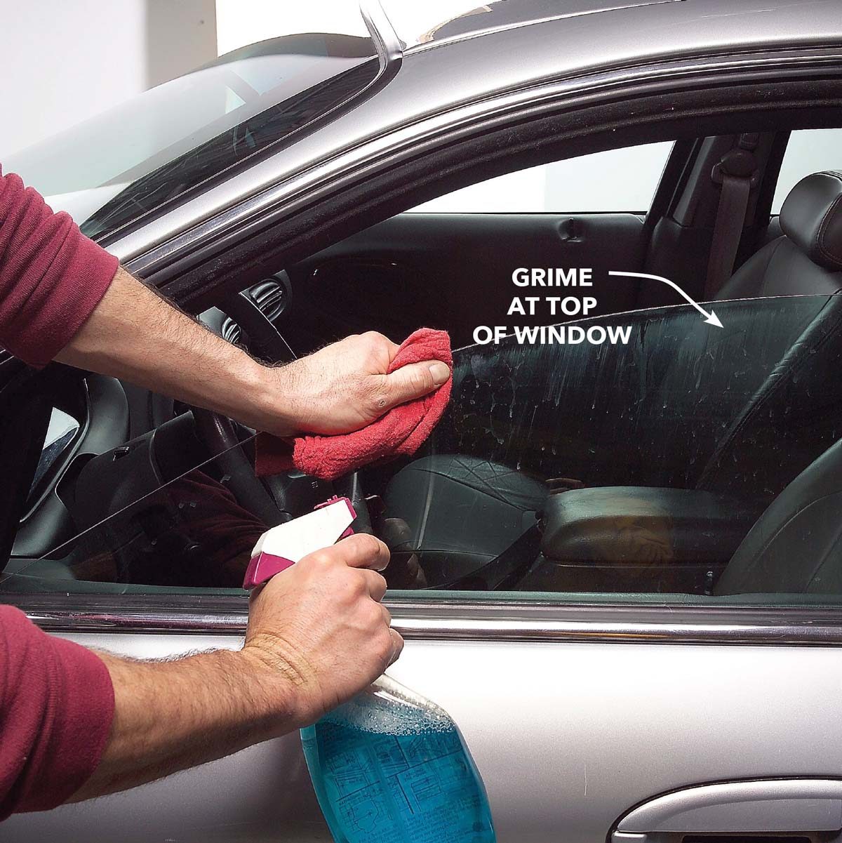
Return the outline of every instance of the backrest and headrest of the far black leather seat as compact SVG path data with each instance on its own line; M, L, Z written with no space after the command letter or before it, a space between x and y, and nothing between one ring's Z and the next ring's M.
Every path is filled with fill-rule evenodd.
M780 209L780 228L784 234L749 258L717 299L833 296L842 290L842 174L814 173L799 181ZM797 339L777 331L782 357L774 368L761 362L761 348L755 346L754 374L761 379L748 400L721 395L721 401L733 404L732 422L717 436L695 481L697 488L754 495L768 502L839 438L842 395L835 386L835 371L842 348L840 311L842 296L834 296ZM770 352L774 345L765 342L765 350ZM748 375L751 362L743 364L741 373ZM683 381L683 368L671 367L659 400L673 404ZM744 403L737 405L737 399ZM803 418L796 421L796 413ZM780 449L785 453L764 459L783 441L788 442Z

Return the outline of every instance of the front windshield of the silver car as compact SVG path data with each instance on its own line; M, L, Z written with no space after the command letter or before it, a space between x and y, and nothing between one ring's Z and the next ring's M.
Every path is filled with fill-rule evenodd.
M3 169L101 236L308 126L377 73L369 38L261 41L14 154Z

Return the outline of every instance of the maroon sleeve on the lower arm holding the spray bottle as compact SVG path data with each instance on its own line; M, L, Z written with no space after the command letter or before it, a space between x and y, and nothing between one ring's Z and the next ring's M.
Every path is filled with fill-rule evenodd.
M0 819L67 801L99 763L113 717L94 652L0 606Z

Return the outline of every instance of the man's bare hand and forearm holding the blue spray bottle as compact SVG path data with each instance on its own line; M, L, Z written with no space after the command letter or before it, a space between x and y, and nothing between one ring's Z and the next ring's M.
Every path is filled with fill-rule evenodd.
M357 534L256 591L239 652L161 662L102 653L115 716L105 754L72 801L125 790L292 732L371 684L404 646L378 571L389 550Z

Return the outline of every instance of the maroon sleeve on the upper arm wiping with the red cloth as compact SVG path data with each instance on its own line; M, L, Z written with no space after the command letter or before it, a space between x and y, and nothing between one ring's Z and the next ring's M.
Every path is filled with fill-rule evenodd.
M0 170L0 346L44 366L105 295L117 259Z

